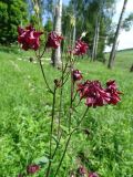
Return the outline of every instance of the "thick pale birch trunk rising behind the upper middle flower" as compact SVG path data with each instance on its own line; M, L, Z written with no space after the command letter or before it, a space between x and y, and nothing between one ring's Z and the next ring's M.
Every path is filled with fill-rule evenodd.
M54 27L53 30L61 35L61 19L62 19L62 0L58 0L55 7L55 14L54 14ZM53 66L61 67L61 46L52 51L51 61Z

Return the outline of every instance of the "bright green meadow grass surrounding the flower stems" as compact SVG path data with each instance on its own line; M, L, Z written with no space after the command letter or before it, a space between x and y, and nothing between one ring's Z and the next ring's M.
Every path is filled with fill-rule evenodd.
M16 177L48 153L52 98L38 64L28 62L29 55L22 51L0 51L0 177ZM99 62L78 61L78 69L85 79L102 83L114 79L123 95L117 106L90 108L83 123L90 135L80 132L73 135L59 177L68 177L81 159L88 169L98 171L101 177L133 176L133 73L129 72L132 56L133 51L119 52L113 71ZM20 58L22 60L18 60ZM53 75L59 76L60 71L53 70L48 61L44 63L52 85ZM69 87L65 90L69 92ZM64 96L64 102L68 105L69 97ZM84 105L73 118L83 111ZM54 166L57 163L58 159ZM34 176L43 177L44 169Z

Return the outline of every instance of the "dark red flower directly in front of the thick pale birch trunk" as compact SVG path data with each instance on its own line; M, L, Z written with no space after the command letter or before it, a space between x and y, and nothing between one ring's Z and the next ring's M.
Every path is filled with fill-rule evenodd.
M58 35L55 31L52 31L48 35L47 48L57 49L60 46L62 40L63 38L61 35Z

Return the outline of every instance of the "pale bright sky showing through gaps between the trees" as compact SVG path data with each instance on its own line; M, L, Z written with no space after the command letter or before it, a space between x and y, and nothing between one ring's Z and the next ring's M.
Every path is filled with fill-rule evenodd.
M63 0L64 4L68 4L70 0ZM116 2L116 14L113 17L113 21L117 23L119 21L119 17L123 7L123 2L124 0L117 0ZM126 10L125 10L125 14L124 18L127 17L127 14L130 14L131 12L133 12L133 0L129 0L127 1L127 6L126 6ZM133 27L130 31L124 31L121 30L120 35L119 35L119 46L117 50L123 50L123 49L130 49L133 48ZM109 52L111 51L111 48L106 46L105 51Z

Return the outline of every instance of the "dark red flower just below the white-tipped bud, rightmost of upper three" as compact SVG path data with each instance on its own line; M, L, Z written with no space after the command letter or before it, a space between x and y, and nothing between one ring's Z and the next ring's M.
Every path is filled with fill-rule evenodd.
M83 42L83 41L81 41L81 40L78 40L76 42L75 42L75 48L74 48L74 50L72 51L72 53L74 54L74 55L83 55L83 54L85 54L86 53L86 51L88 51L88 44L85 43L85 42Z

